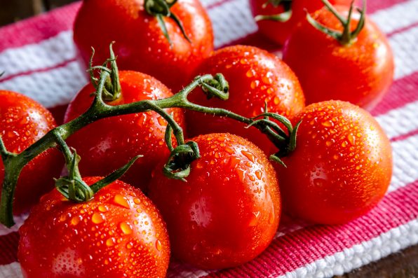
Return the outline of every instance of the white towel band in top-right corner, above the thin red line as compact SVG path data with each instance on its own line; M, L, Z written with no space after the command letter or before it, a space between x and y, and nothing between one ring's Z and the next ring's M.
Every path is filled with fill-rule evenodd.
M410 0L376 11L370 15L370 19L379 26L382 32L389 34L418 22L417 11L418 0Z

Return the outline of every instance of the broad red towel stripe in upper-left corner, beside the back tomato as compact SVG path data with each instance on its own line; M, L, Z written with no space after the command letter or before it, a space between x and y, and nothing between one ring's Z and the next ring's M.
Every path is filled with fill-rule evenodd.
M79 6L80 2L77 2L1 28L0 52L29 43L39 43L62 31L72 29Z

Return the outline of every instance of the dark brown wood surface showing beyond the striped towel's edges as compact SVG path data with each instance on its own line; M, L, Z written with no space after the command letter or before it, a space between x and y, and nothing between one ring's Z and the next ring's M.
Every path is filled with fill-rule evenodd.
M0 0L0 26L63 6L75 0ZM379 0L376 0L379 1ZM339 278L418 277L418 245L370 263ZM337 278L337 277L336 277Z

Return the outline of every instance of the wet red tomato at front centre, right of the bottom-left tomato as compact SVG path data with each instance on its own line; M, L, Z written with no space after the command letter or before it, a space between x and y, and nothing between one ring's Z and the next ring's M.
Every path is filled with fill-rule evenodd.
M281 200L266 155L233 134L192 139L201 158L187 182L154 170L149 196L166 220L175 257L201 268L233 267L255 258L278 227Z

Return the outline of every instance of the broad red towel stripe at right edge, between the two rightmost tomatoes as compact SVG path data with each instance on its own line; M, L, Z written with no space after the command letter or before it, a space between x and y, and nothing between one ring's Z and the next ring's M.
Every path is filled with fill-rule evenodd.
M370 113L373 116L382 115L418 100L418 71L393 82L389 92Z

